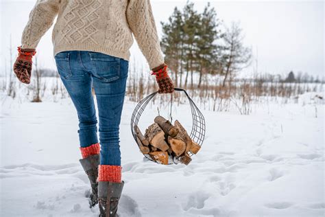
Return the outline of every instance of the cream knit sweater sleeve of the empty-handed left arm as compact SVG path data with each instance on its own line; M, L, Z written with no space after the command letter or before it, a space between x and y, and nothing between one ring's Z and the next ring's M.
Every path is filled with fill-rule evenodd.
M21 48L36 49L40 38L49 30L58 14L60 0L38 0L29 13L29 21L23 30Z

